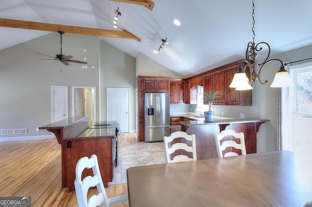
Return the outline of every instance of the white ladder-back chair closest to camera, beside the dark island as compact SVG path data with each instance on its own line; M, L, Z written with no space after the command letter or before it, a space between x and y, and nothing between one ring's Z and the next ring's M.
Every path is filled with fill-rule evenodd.
M87 168L92 168L93 176L88 175L81 180L82 171ZM98 195L92 195L89 200L87 192L90 188L97 186ZM75 190L79 207L96 207L102 205L103 207L110 207L110 205L128 201L128 195L119 195L108 198L104 189L103 181L98 167L97 155L81 157L76 165L76 179Z

